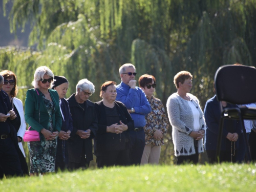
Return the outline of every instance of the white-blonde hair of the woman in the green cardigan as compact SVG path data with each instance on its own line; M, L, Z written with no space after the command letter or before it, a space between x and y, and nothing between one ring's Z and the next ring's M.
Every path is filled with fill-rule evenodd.
M53 72L46 66L41 66L35 70L34 74L34 80L32 81L32 86L34 88L39 88L38 87L38 81L44 80L44 75L47 74L49 77L54 77ZM52 87L52 83L50 85L50 88Z

